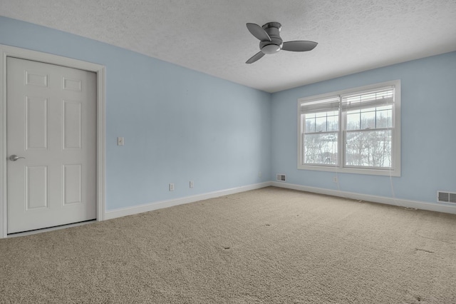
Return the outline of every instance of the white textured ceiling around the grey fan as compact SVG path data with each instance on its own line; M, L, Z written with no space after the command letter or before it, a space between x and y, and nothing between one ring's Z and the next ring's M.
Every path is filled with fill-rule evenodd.
M267 92L456 51L456 0L0 0L0 15ZM245 24L269 21L318 46L245 64Z

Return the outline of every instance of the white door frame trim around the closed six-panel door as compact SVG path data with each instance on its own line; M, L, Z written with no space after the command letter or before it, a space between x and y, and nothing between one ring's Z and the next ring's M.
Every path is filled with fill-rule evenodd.
M0 44L0 238L7 236L6 212L6 57L56 64L97 74L97 221L105 218L105 66Z

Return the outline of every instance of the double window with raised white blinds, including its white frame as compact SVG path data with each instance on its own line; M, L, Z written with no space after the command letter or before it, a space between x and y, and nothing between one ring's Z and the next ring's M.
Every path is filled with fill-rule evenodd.
M400 81L298 101L298 168L400 176Z

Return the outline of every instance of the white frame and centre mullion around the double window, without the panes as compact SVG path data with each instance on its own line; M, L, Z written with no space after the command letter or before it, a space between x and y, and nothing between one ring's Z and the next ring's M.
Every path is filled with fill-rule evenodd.
M393 103L393 165L391 168L362 168L353 166L344 166L345 163L345 138L346 138L346 126L345 126L345 115L343 114L342 98L357 93L363 93L368 91L375 91L380 88L394 87L395 96ZM339 128L338 128L338 158L337 164L328 166L326 164L303 164L302 163L302 130L301 123L301 106L305 104L312 104L316 101L333 98L334 96L339 97L340 105L339 111ZM310 96L306 98L298 99L298 111L297 111L297 124L298 124L298 169L300 170L313 170L313 171L329 171L329 172L340 172L340 173L356 173L356 174L369 174L378 176L400 176L400 80L386 81L383 83L375 83L369 86L361 86L358 88L350 88L343 91L336 91L331 93L324 93L318 96Z

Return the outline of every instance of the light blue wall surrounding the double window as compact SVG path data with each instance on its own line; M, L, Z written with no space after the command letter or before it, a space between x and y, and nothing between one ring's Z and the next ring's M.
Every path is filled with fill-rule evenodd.
M338 173L341 191L436 202L437 190L456 191L456 52L334 78L272 95L271 180L338 190L334 173L297 169L297 99L400 79L402 175ZM393 189L393 191L392 191Z

